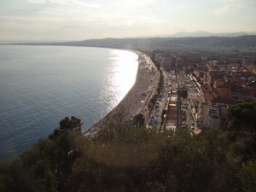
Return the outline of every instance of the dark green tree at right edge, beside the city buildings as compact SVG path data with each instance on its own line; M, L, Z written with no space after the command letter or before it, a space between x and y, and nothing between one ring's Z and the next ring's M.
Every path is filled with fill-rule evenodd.
M241 166L256 152L256 102L241 102L228 110L230 131L230 160Z

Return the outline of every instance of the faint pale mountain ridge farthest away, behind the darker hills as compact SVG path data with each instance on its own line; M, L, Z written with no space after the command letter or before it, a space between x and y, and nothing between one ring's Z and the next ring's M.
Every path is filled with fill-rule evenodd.
M172 35L164 35L164 34L159 34L159 35L153 35L153 36L143 36L140 38L187 38L187 37L192 37L192 38L205 38L205 37L239 37L243 35L256 35L256 32L205 32L205 31L196 31L196 32L177 32Z

